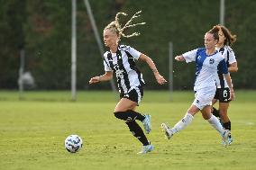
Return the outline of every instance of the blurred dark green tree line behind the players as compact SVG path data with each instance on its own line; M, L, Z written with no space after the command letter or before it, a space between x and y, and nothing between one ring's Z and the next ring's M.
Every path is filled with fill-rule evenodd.
M77 0L78 89L109 89L109 83L88 85L91 76L104 73L96 39L83 0ZM25 50L25 70L35 78L37 89L69 89L71 75L71 1L0 0L0 88L17 88L20 51ZM90 0L99 33L114 20L115 13L128 17L142 10L138 22L147 22L130 31L139 37L122 39L123 44L150 56L160 73L169 77L169 41L174 56L204 47L205 32L219 23L219 1L211 0ZM233 44L238 73L235 88L256 88L256 1L226 0L225 26L237 35ZM102 37L101 37L102 38ZM105 49L107 50L107 49ZM151 69L138 62L148 89L167 89L157 85ZM192 89L195 65L174 61L175 89Z

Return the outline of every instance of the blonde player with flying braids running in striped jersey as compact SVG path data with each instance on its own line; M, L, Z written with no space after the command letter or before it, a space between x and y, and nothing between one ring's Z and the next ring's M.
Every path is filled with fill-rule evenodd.
M117 13L115 21L110 22L105 27L103 33L104 42L105 46L110 49L104 54L105 75L92 77L89 84L108 81L112 79L113 72L115 73L120 93L120 101L114 108L114 116L117 119L125 121L133 136L142 142L142 151L138 154L146 154L153 150L153 146L144 135L142 128L136 120L142 121L146 133L150 133L151 115L143 115L140 112L135 112L136 106L139 105L142 100L143 85L145 84L142 78L142 73L135 65L135 59L144 61L151 67L156 81L160 85L164 84L166 80L163 76L160 76L160 73L151 58L130 46L119 45L121 37L129 38L140 34L138 32L134 32L130 35L125 35L123 33L126 28L145 23L132 23L134 18L140 16L139 13L141 13L141 11L135 13L123 27L119 22L119 16L121 14L127 14Z

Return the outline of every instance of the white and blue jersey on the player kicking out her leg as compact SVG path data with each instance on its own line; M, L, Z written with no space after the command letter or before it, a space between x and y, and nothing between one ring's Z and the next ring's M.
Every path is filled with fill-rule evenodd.
M215 77L218 67L223 74L228 73L224 57L217 50L215 54L208 56L206 49L194 49L182 55L186 62L196 62L196 80L194 91L206 88L215 88Z

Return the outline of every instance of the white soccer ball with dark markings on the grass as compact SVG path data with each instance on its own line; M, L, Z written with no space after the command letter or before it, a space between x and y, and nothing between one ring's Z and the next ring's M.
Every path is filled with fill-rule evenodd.
M83 147L83 140L78 135L70 135L65 139L65 148L71 152L76 153Z

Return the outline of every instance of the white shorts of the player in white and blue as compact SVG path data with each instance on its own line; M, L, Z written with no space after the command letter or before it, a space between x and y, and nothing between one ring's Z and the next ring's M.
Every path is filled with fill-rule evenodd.
M212 105L212 101L215 97L216 88L204 88L200 89L195 94L195 100L192 103L197 106L198 109L202 110L208 105Z

